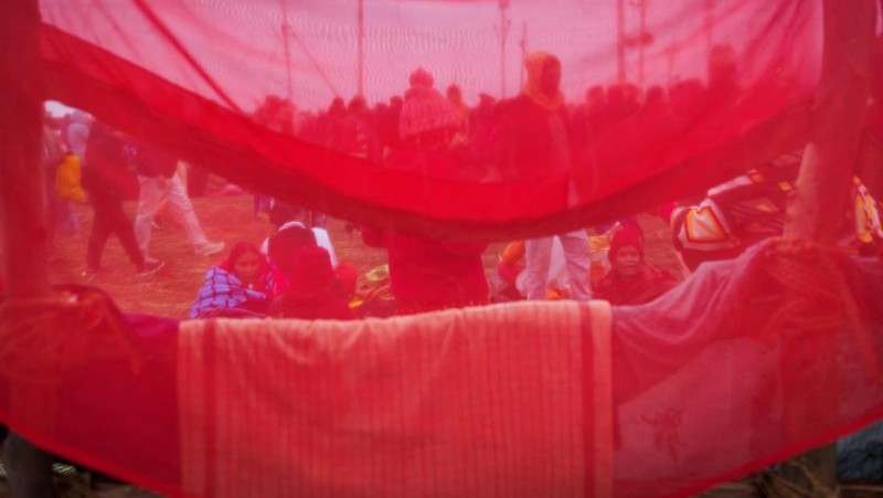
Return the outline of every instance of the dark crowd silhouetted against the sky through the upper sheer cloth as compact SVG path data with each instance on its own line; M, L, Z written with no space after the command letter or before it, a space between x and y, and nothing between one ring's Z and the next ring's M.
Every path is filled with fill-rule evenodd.
M550 61L554 61L556 68L547 65ZM673 82L669 87L655 85L646 89L628 82L592 85L582 102L566 102L561 91L558 59L535 52L524 61L526 82L518 96L498 99L481 93L478 103L470 107L459 85L451 83L444 89L449 106L425 108L426 114L421 116L417 126L433 123L433 126L455 129L455 139L448 146L457 168L433 171L434 177L474 181L536 178L554 171L555 165L547 163L553 158L546 156L554 150L540 149L531 151L531 157L511 160L503 159L504 150L501 150L521 138L540 140L539 137L549 134L543 130L545 125L525 123L525 118L536 117L531 106L522 105L525 99L562 117L561 123L554 125L556 139L566 144L566 162L579 165L592 160L591 157L597 158L599 152L603 156L605 148L617 147L624 139L630 140L630 148L636 149L648 147L643 137L664 135L664 130L677 135L679 130L698 127L703 120L706 123L702 126L720 125L710 118L709 109L726 108L738 95L735 64L734 50L717 45L711 51L709 75L704 81L689 78ZM413 113L403 117L403 110L415 99L429 98L427 92L415 93L414 88L429 88L442 94L435 86L435 77L422 67L409 75L407 83L403 94L373 106L361 95L349 102L338 96L319 112L301 110L286 98L269 95L253 117L269 129L394 168L390 159L396 150L407 146L403 144L402 127L413 128L415 123L411 120ZM545 89L541 89L543 85ZM528 149L523 145L521 148ZM534 168L534 159L544 160L546 166Z

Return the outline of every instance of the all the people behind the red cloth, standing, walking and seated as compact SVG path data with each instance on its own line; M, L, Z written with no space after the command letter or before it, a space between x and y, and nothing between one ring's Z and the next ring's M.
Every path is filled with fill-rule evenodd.
M535 52L524 64L526 82L517 97L494 102L482 94L474 108L466 105L457 85L443 94L435 88L434 76L417 68L403 96L390 98L389 104L369 108L361 96L349 104L334 98L326 110L310 114L269 96L252 118L274 131L423 177L530 179L584 161L587 151L621 123L647 116L677 119L709 98L725 97L737 85L734 55L725 46L712 51L708 84L691 80L646 93L630 84L593 86L576 106L567 105L561 92L557 57ZM195 254L223 251L224 243L210 241L200 226L179 176L180 161L162 148L119 134L81 112L64 120L60 134L47 129L44 142L58 223L70 220L65 206L71 202L88 199L93 206L84 275L100 272L110 235L119 237L140 275L162 268L164 263L151 257L149 247L163 206L178 218ZM672 223L673 245L685 272L703 261L733 257L780 233L800 162L799 155L789 157L752 170L747 181L734 183L737 188L713 189L695 205L660 208L662 219ZM132 189L126 171L137 176L134 221L123 210L125 190ZM862 254L875 254L883 241L876 203L858 180L854 195L857 209L850 215L855 241ZM209 269L190 317L354 317L348 303L354 298L358 272L352 263L338 259L325 216L260 194L255 194L254 210L268 212L275 233L260 246L248 241L234 244L224 262ZM605 232L609 226L594 229ZM607 232L610 271L603 277L592 277L588 232L578 229L519 241L519 257L501 258L491 272L492 284L509 284L502 286L489 285L481 258L488 246L483 241L430 239L375 226L358 230L366 245L387 252L389 290L400 315L551 295L639 305L679 282L645 261L643 233L634 216L619 220ZM703 230L713 231L713 236Z

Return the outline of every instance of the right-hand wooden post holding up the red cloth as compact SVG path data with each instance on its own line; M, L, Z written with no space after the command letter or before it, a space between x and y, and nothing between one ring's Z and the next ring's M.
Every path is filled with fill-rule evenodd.
M822 74L813 107L811 141L797 179L785 236L833 245L843 226L859 138L871 87L875 0L825 0ZM830 359L836 361L834 359ZM823 368L821 364L819 368ZM828 407L819 406L825 412ZM785 424L806 414L786 407ZM787 431L787 427L786 427ZM829 489L837 486L833 444L795 458ZM790 470L788 470L790 468ZM786 466L785 477L801 487L808 480Z

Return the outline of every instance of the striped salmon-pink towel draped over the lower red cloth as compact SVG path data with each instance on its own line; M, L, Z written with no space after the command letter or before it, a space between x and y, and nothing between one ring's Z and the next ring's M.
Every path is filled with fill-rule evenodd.
M609 330L603 301L185 322L183 489L609 496Z

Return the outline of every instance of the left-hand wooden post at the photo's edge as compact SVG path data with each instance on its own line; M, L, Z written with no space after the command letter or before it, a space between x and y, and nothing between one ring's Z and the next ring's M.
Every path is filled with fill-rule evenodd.
M38 0L0 0L0 189L10 301L45 297L50 290L39 29ZM8 314L3 332L14 332L21 318ZM11 497L53 496L50 455L14 433L4 452Z

